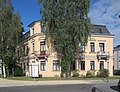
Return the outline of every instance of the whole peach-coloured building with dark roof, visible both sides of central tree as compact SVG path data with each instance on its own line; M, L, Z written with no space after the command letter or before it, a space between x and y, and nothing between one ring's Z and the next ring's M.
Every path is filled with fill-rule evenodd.
M23 44L18 48L19 55L25 53L20 63L26 76L31 76L32 73L35 75L36 71L43 77L60 76L60 56L51 47L52 43L45 39L45 27L39 20L28 26L30 31L24 35ZM106 26L93 26L88 44L85 47L81 43L80 57L75 63L80 76L85 76L89 70L96 70L97 74L103 68L108 69L110 76L113 76L113 37Z

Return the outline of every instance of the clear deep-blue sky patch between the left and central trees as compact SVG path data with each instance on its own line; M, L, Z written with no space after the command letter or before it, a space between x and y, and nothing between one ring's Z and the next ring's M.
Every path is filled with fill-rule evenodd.
M23 22L25 31L28 31L27 27L31 22L40 20L40 6L37 4L37 0L11 0L12 6L15 12L19 12L21 21Z

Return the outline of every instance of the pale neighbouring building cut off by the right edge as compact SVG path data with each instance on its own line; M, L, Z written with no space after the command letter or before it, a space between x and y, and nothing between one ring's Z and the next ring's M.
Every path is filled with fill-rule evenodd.
M114 47L114 70L120 70L120 45Z

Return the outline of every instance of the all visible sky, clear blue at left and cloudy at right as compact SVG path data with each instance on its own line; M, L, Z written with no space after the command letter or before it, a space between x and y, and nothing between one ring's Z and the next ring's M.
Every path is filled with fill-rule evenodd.
M15 12L19 12L25 31L31 22L40 20L40 7L37 0L12 0ZM114 46L120 44L120 0L90 0L89 18L93 24L106 25L114 34Z

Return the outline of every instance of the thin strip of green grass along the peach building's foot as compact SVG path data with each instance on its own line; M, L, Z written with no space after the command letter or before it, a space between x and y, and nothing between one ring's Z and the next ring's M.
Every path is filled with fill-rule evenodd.
M7 77L7 79L10 80L23 80L23 81L51 81L51 80L102 80L104 78L99 77L93 77L93 78L87 78L87 77L70 77L70 78L60 78L60 77L43 77L43 78L30 78L30 77ZM112 76L109 77L109 79L120 79L120 76Z

